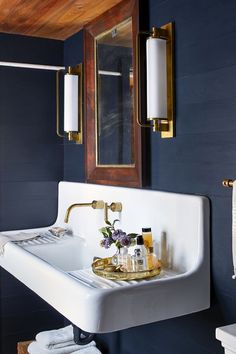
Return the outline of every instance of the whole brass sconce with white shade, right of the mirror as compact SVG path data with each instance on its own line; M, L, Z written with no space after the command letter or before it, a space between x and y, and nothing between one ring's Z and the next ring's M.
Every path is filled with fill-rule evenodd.
M141 119L140 83L140 40L146 38L146 123ZM151 32L137 35L137 123L141 127L161 132L162 138L174 136L173 104L173 23L160 28L153 27Z

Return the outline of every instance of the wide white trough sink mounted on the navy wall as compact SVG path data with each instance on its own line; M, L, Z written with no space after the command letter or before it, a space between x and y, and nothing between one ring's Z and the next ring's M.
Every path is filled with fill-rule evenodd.
M164 263L151 280L118 282L94 275L103 210L75 209L72 235L7 243L0 265L82 330L104 333L201 311L210 306L209 206L204 197L83 183L59 184L57 226L73 203L122 202L120 228L152 227ZM45 229L40 229L43 232ZM35 231L35 230L24 230ZM15 231L14 231L15 232Z

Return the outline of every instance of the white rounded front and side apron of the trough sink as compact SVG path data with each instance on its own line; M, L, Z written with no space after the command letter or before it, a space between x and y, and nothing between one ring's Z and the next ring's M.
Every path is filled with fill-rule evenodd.
M141 325L209 307L209 303L206 303L200 294L196 301L198 291L196 280L203 271L202 262L195 269L174 277L149 280L148 284L141 282L129 285L125 289L123 287L105 290L91 289L73 279L66 271L32 254L30 248L28 246L24 249L17 244L7 244L2 266L56 310L63 313L72 323L91 333L112 332L130 327L130 323L136 321ZM8 259L17 259L17 262L8 262ZM44 279L44 281L37 279ZM48 291L49 284L50 291ZM202 283L202 286L207 287L207 284ZM156 298L152 297L153 288L158 295ZM65 289L67 289L66 293ZM175 289L174 302L170 301L173 289ZM124 297L125 301L123 301ZM142 310L140 319L140 315L135 316L135 314L137 309L145 308L144 298L149 299L152 307L147 306L145 311ZM186 302L186 298L189 301ZM122 308L122 311L117 312L117 308ZM125 318L120 313L125 313ZM111 321L112 316L115 316L115 322ZM99 320L101 317L102 324Z

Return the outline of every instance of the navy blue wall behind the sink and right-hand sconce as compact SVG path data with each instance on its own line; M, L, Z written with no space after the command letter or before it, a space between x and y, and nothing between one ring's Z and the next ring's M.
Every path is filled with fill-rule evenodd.
M232 191L221 187L222 179L236 178L235 13L235 0L149 1L150 25L174 21L176 28L176 138L152 134L151 188L209 197L212 304L200 313L98 336L103 354L220 354L215 328L236 322ZM71 46L67 60L81 58L81 40L74 37L77 52ZM76 156L65 154L65 176L84 181L82 172L75 179L84 157L72 149Z

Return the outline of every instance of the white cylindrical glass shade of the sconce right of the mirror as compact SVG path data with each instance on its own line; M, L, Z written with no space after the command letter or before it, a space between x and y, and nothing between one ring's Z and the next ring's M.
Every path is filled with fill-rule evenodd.
M167 118L166 40L148 38L147 118Z

